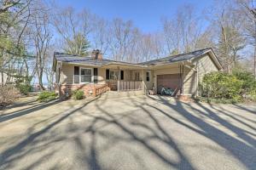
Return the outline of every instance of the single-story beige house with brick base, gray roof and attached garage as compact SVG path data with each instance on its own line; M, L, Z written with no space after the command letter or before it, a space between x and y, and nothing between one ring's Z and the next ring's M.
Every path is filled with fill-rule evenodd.
M165 87L172 88L175 95L195 96L202 77L222 70L222 66L212 48L138 64L104 59L99 50L94 50L87 57L55 53L53 70L60 95L75 89L84 90L86 96L106 90L143 90L145 94L150 90L159 94Z

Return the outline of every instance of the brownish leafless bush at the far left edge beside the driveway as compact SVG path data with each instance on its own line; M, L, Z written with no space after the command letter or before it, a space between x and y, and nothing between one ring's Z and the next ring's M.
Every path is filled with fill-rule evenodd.
M19 91L14 86L0 86L0 108L12 104L18 97Z

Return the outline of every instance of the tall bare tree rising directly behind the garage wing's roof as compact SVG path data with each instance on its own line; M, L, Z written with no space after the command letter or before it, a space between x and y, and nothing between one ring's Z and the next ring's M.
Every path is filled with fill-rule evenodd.
M199 21L200 17L190 4L180 7L173 19L162 20L168 54L172 54L173 51L181 53L195 50L196 42L201 36Z

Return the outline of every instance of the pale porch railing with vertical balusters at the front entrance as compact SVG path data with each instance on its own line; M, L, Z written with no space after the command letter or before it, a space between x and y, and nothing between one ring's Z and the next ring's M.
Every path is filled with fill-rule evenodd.
M129 90L142 90L142 81L118 81L117 87L119 91L129 91Z

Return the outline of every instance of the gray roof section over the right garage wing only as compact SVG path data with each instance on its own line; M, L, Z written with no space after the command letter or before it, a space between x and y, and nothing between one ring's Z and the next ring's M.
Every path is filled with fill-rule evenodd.
M143 62L140 64L162 65L162 64L167 64L167 63L174 63L174 62L178 62L178 61L195 59L197 57L201 57L201 55L203 55L203 54L206 54L207 52L209 52L209 50L212 50L212 48L200 49L200 50L196 50L196 51L185 53L185 54L170 55L165 58L154 59L154 60L146 61L146 62Z

